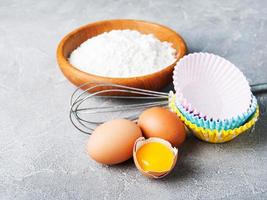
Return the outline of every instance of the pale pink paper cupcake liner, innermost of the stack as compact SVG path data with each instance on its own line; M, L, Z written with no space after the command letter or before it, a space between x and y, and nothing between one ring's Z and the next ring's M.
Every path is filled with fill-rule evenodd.
M243 73L226 59L209 53L181 58L173 73L177 101L190 113L213 120L247 111L251 90Z

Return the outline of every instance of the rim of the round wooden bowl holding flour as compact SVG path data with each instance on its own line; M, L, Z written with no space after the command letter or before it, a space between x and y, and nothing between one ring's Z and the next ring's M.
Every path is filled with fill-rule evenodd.
M155 25L155 26L159 26L160 28L164 28L164 29L166 29L169 32L172 32L179 39L178 57L176 58L176 60L172 64L170 64L170 65L162 68L161 70L156 71L156 72L153 72L153 73L150 73L150 74L146 74L146 75L130 76L130 77L106 77L106 76L100 76L100 75L91 74L91 73L88 73L88 72L79 70L78 68L76 68L75 66L73 66L72 64L70 64L70 62L67 60L67 58L63 55L63 47L64 47L65 43L68 41L68 39L71 36L75 35L76 33L82 31L83 29L85 29L85 28L87 28L89 26L95 26L95 25L99 25L99 24L107 23L107 22L109 22L109 23L115 22L116 23L116 22L122 22L122 21L123 22L129 22L129 23L138 22L138 23ZM96 21L96 22L93 22L93 23L89 23L89 24L83 25L83 26L81 26L79 28L74 29L73 31L71 31L67 35L65 35L63 37L63 39L60 41L60 43L59 43L59 45L57 47L57 60L58 60L58 62L59 61L60 62L63 62L63 65L65 66L65 67L63 67L63 65L59 64L59 67L61 69L66 68L66 66L67 66L68 68L71 68L72 70L76 71L78 74L83 74L83 75L86 75L88 77L91 76L91 77L95 77L95 78L98 78L98 79L107 80L107 82L114 82L114 81L122 81L123 82L123 81L126 81L126 80L129 81L129 79L131 79L131 80L135 79L136 80L136 79L152 78L152 77L156 77L156 76L158 76L158 75L160 75L160 74L162 74L162 73L164 73L166 71L172 70L172 68L174 68L174 66L176 65L176 63L178 62L178 60L180 58L182 58L186 54L186 51L187 51L187 46L186 46L186 43L185 43L184 39L182 38L182 36L180 36L177 32L175 32L174 30L172 30L171 28L169 28L167 26L164 26L164 25L161 25L161 24L158 24L158 23L154 23L154 22L150 22L150 21L146 21L146 20L111 19L111 20Z

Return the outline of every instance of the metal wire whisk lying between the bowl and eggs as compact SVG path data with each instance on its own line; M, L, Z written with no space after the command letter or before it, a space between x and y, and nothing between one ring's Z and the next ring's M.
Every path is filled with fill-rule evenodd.
M251 89L256 94L266 92L267 83L251 85ZM72 94L69 117L79 131L91 134L98 125L108 120L125 118L135 121L146 108L167 107L172 95L172 91L157 92L112 83L89 82Z

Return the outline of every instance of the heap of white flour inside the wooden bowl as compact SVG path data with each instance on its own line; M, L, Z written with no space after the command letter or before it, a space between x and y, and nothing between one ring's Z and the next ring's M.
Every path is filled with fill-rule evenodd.
M76 68L100 76L133 77L149 74L175 61L176 50L155 36L113 30L90 38L69 58Z

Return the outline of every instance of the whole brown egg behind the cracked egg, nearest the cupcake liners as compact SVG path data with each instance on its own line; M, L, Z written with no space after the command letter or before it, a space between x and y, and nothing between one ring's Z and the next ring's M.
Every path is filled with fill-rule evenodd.
M139 116L138 125L146 138L159 137L175 147L181 145L186 137L183 122L175 113L165 108L153 107L145 110Z

